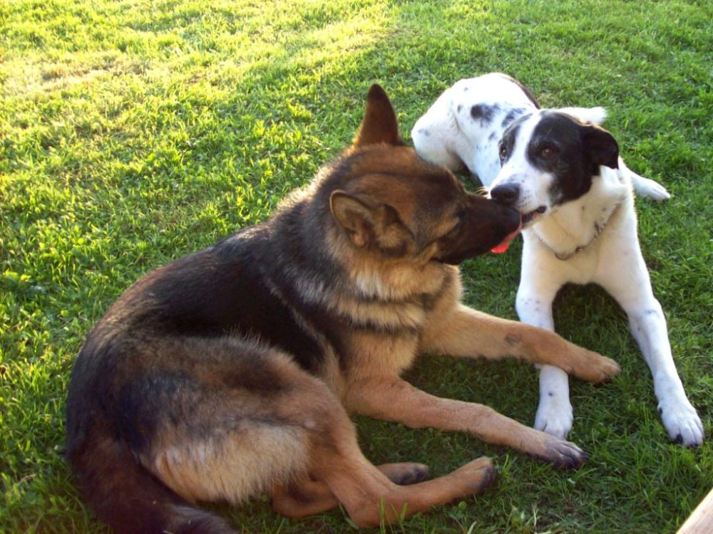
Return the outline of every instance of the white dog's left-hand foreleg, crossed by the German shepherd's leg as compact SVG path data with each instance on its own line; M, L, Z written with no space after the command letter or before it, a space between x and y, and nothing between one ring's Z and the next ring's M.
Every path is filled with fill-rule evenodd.
M528 282L520 282L516 307L523 323L555 330L552 316L552 303L558 287L547 290L538 287L535 292ZM558 367L542 365L540 367L540 404L535 415L535 429L566 438L572 429L572 404L570 404L570 384L567 373Z

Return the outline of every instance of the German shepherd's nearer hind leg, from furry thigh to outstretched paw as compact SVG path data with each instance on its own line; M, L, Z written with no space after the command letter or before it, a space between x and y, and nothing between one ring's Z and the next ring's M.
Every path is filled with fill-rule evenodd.
M138 457L186 501L241 503L276 486L289 488L309 473L329 488L356 524L378 525L478 493L493 480L491 462L481 459L433 481L392 482L388 474L401 481L409 476L394 466L382 473L366 460L354 424L327 384L277 350L231 339L183 340L163 350L173 352L173 361L201 357L194 361L191 378L167 371L133 384L141 401L134 426L154 422L150 446ZM221 357L226 352L229 359ZM147 389L153 390L150 397ZM171 402L163 404L166 398ZM162 404L157 409L150 399ZM182 412L175 417L172 411L178 409ZM160 424L157 411L163 411ZM329 504L321 488L308 489L312 503L307 512ZM292 511L277 496L277 508Z

